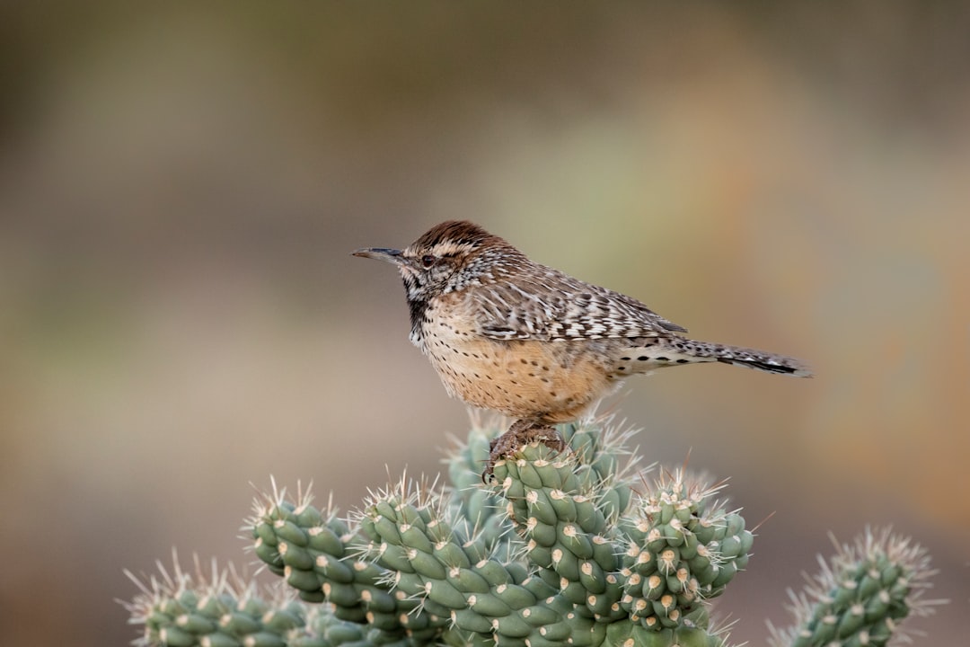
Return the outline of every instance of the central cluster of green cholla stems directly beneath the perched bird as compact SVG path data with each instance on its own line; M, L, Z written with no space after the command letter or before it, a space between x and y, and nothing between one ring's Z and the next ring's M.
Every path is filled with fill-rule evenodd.
M254 550L307 601L388 640L454 644L720 645L706 599L747 561L737 513L678 472L644 495L629 434L561 430L560 454L536 444L478 469L496 430L474 429L449 461L452 485L403 478L352 521L308 496L259 501Z

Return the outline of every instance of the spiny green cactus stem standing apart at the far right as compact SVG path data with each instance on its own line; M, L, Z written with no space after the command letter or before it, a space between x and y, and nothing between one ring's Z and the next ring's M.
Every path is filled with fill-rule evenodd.
M873 645L899 633L911 613L925 614L935 602L921 599L925 579L935 571L919 545L867 530L855 545L838 545L801 596L792 594L796 624L772 628L772 643L792 647Z

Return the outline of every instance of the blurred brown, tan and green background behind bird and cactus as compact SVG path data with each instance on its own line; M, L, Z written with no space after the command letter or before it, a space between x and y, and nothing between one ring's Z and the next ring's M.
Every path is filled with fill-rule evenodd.
M0 7L0 642L126 644L122 569L249 562L271 474L436 473L468 413L349 252L449 218L815 368L603 406L775 513L734 640L867 524L942 569L918 642L965 638L965 3L60 4Z

